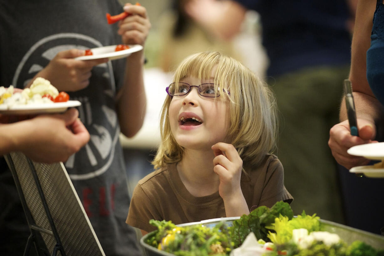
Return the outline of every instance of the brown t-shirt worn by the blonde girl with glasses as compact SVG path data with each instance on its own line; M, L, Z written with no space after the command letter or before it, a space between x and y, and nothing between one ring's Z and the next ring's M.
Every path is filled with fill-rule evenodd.
M283 166L275 155L266 155L254 170L245 168L240 186L250 210L273 206L277 201L291 203L293 198L284 186ZM153 231L150 219L171 220L175 224L225 217L224 201L218 191L196 197L182 183L176 164L156 170L135 187L126 223Z

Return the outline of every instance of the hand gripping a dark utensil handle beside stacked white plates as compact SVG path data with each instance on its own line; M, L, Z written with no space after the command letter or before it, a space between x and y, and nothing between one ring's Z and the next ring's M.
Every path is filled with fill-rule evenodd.
M348 120L334 125L329 130L328 145L331 148L332 155L336 161L347 169L354 166L367 165L370 160L362 156L353 156L347 153L347 150L353 146L375 143L372 141L376 136L376 126L371 121L358 118L359 136L351 135Z

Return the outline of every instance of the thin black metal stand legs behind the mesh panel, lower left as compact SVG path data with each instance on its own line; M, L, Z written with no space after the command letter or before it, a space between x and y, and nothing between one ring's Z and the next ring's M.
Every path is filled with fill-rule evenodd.
M35 166L33 165L33 162L28 157L26 157L26 159L28 161L28 165L29 165L30 170L31 170L31 173L33 175L33 179L35 181L35 185L36 185L36 188L38 190L41 202L43 204L43 207L44 207L44 210L46 213L46 217L49 221L49 224L50 224L52 230L49 230L49 229L46 229L46 228L43 228L43 227L36 225L36 223L33 219L33 216L32 216L32 214L28 208L28 205L26 203L25 196L24 196L24 193L22 190L22 186L20 184L20 180L19 180L18 175L17 175L17 171L15 169L15 165L13 163L12 156L11 155L7 155L7 156L8 156L8 162L9 162L8 165L9 165L9 168L11 170L13 180L15 180L16 188L17 188L18 194L20 196L20 200L21 200L21 203L22 203L22 206L24 209L24 213L25 213L25 216L26 216L26 219L28 222L29 229L31 231L31 235L29 236L28 241L26 243L23 256L29 255L32 244L35 245L36 252L39 256L48 256L49 255L46 244L45 244L40 233L49 234L55 238L56 245L53 248L53 251L51 254L52 256L56 256L58 251L60 251L62 256L66 256L64 248L63 248L63 244L61 243L61 240L60 240L59 234L57 232L55 223L53 222L51 211L50 211L48 204L46 202L43 188L41 188L40 180L38 178L38 175L37 175Z

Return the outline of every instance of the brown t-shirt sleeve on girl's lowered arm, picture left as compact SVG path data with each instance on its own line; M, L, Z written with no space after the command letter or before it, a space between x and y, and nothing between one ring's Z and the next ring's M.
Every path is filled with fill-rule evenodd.
M132 194L126 223L135 228L151 232L156 229L155 226L149 224L151 219L161 219L161 216L156 210L156 204L152 202L142 186L138 184Z

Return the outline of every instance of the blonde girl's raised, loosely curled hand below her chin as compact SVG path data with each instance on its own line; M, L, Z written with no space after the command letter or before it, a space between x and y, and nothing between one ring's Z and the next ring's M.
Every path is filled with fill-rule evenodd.
M214 172L220 178L219 194L223 200L232 200L243 196L240 187L240 178L243 167L243 160L232 144L223 142L212 146L215 158Z

